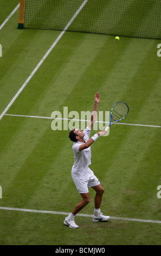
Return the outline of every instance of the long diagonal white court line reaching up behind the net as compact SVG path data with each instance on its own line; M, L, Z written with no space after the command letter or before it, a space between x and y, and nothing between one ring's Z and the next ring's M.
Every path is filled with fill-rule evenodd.
M74 14L74 16L72 17L72 19L68 22L67 26L63 29L63 31L60 33L60 35L56 38L55 42L53 43L53 45L51 45L51 47L49 48L49 50L47 51L47 53L43 56L43 58L40 60L40 62L37 64L36 68L33 70L33 72L31 72L31 74L29 75L29 77L27 78L27 80L24 82L24 84L22 85L22 87L18 90L18 92L16 93L16 95L13 97L13 99L10 101L10 103L8 104L8 106L4 109L4 111L2 112L2 114L0 115L0 120L3 118L4 114L8 111L8 109L10 108L10 106L12 105L12 103L14 103L14 101L17 99L18 95L20 95L20 93L22 92L22 90L25 88L25 86L28 84L28 82L30 81L30 79L34 76L34 74L36 73L36 71L38 70L38 68L40 68L41 64L44 62L44 60L48 57L49 53L53 50L53 48L55 47L55 45L57 44L57 42L59 42L59 40L62 38L63 34L67 31L68 27L71 25L71 23L74 21L74 19L76 18L76 16L80 13L80 11L82 10L82 8L85 6L85 4L87 3L88 0L85 0L80 8L76 11L76 13Z

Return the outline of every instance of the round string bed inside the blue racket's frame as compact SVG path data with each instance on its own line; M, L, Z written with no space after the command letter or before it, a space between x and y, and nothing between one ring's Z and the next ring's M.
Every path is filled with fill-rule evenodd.
M120 120L126 117L128 106L124 102L118 102L112 109L112 119Z

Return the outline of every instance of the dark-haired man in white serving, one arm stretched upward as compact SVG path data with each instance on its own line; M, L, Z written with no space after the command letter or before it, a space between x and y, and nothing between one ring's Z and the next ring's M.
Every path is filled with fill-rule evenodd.
M104 136L106 131L101 131L95 133L95 135L89 138L91 129L93 127L94 121L96 120L95 114L98 110L98 103L100 97L99 93L95 95L94 109L91 115L91 122L88 124L86 129L82 132L78 129L72 129L69 132L69 138L74 142L73 152L74 152L74 164L72 167L72 178L74 184L80 193L82 200L75 205L72 212L65 218L64 224L68 225L69 228L78 228L79 226L75 224L74 218L78 212L83 209L90 201L88 187L92 187L95 191L94 198L94 215L92 220L94 222L107 221L110 216L102 215L100 211L100 205L102 196L104 193L104 188L101 186L100 181L91 169L89 169L89 164L91 164L91 145L99 138L99 136Z

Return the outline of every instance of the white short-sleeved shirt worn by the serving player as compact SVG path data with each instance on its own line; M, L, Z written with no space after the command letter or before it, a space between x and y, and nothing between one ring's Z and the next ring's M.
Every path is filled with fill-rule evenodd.
M91 129L87 126L83 131L85 133L84 139L85 142L88 141ZM73 152L74 152L74 164L72 167L72 174L84 175L87 172L89 164L91 164L91 147L79 151L79 147L83 142L74 142Z

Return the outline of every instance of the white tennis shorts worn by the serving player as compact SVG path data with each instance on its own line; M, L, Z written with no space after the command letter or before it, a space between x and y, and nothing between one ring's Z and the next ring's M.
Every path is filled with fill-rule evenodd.
M72 179L80 194L88 193L88 187L98 186L100 181L94 175L93 171L88 167L85 175L75 175L72 173Z

